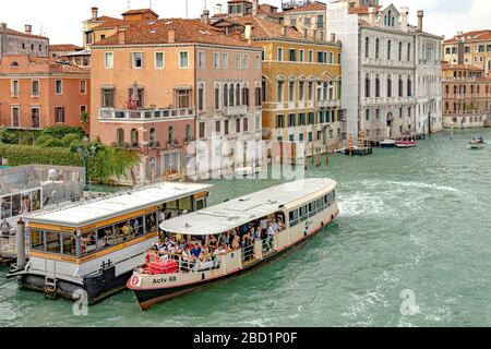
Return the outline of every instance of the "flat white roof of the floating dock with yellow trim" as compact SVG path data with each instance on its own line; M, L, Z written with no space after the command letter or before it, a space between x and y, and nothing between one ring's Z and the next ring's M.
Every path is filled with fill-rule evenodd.
M108 218L131 214L177 198L191 196L209 189L209 184L161 182L137 190L77 203L53 210L26 215L29 222L62 227L85 227Z

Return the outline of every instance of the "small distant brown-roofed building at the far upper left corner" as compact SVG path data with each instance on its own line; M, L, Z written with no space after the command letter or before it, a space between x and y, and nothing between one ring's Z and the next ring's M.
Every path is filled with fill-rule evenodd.
M31 55L48 57L49 39L33 34L33 26L25 25L24 32L17 32L0 23L0 59L5 55Z

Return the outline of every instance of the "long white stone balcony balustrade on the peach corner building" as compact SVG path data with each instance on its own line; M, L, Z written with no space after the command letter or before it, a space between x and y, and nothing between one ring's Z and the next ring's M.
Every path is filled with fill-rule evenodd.
M175 118L190 118L194 117L193 108L182 109L137 109L124 110L103 108L100 109L100 121L117 121L117 122L132 122L132 121L166 121Z

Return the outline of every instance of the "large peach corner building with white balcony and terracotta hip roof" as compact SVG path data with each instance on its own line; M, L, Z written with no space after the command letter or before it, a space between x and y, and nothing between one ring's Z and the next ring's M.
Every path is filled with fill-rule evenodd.
M261 51L206 21L146 21L92 46L91 134L139 149L156 176L206 177L261 140ZM225 140L225 160L212 160Z

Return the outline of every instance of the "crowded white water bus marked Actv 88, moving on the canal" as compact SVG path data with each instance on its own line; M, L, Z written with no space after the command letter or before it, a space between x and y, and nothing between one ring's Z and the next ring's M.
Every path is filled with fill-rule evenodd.
M149 251L127 286L147 310L276 260L335 219L335 188L331 179L299 180L166 220L160 229L169 249Z

